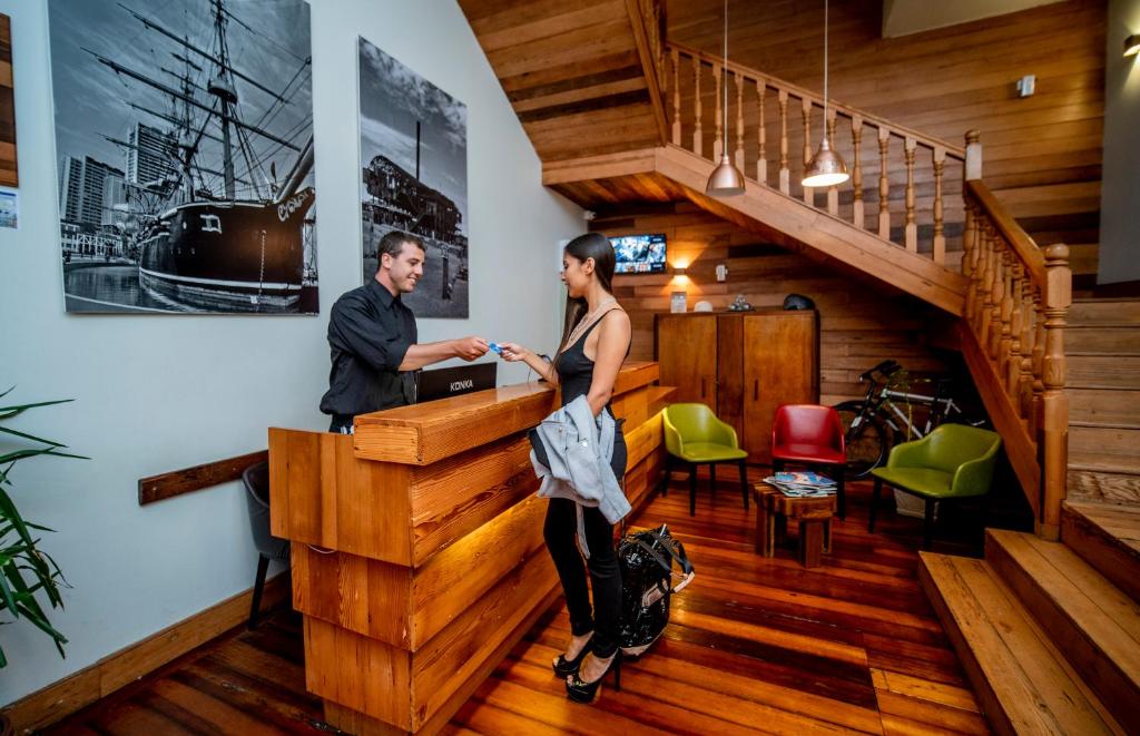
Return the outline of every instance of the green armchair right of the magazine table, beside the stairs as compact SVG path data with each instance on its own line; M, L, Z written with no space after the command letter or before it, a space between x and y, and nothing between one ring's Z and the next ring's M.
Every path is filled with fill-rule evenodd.
M871 471L874 492L868 531L874 531L874 516L886 483L925 502L922 549L930 549L935 504L984 497L993 481L1001 436L996 432L961 424L944 424L915 440L896 444L887 467Z

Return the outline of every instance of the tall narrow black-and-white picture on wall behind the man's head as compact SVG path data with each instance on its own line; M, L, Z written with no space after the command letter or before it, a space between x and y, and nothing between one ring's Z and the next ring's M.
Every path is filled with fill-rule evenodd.
M359 40L361 277L391 230L423 240L416 317L467 317L467 106Z

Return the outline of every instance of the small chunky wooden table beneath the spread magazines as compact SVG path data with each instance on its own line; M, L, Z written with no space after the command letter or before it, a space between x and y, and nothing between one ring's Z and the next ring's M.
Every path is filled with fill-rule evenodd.
M831 517L836 497L795 498L760 482L752 486L756 500L756 554L772 557L776 537L783 537L789 521L799 522L799 562L819 567L823 553L831 551Z

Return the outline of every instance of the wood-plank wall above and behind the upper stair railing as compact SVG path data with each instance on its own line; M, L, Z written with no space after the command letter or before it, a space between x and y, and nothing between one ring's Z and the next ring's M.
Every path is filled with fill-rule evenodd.
M719 55L720 13L719 0L671 0L667 38ZM1105 99L1104 1L1068 0L896 39L880 38L881 14L879 0L831 2L831 97L956 145L967 130L980 130L983 175L997 198L1040 245L1064 242L1075 246L1076 275L1094 273ZM733 62L822 91L822 2L769 0L746 8L736 0L730 6L730 19ZM1037 88L1033 97L1023 99L1013 85L1026 74L1036 75ZM683 92L685 85L683 76ZM711 98L705 104L711 105ZM731 99L730 107L734 105ZM730 114L734 120L732 109ZM774 105L767 106L768 121L777 115ZM789 133L798 136L800 124L799 111L789 109ZM816 113L812 121L816 144L820 130ZM849 131L840 130L836 138L850 163ZM868 211L873 212L878 157L874 141L866 138L862 155L873 175L864 175L864 186ZM769 162L773 140L779 141L769 130ZM749 161L755 160L755 152L748 150ZM789 158L800 157L801 149L792 141ZM951 174L959 175L947 169ZM901 196L899 183L891 181L891 199ZM921 208L923 182L918 183ZM896 204L891 202L891 210L898 212ZM960 208L960 202L954 207ZM955 214L947 211L947 223L960 221ZM926 221L921 212L919 221ZM954 235L947 231L952 248Z

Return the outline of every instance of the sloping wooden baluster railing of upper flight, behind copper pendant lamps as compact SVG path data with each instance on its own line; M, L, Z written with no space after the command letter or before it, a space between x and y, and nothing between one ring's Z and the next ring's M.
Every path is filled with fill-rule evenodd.
M936 263L947 264L947 250L959 256L961 167L946 162L964 163L963 148L830 100L824 121L823 98L804 88L739 64L726 67L723 58L679 43L669 42L666 50L673 145L714 162L730 145L736 167L758 183ZM722 84L730 84L728 109ZM842 136L837 136L839 120ZM816 147L813 125L824 124L852 182L842 190L828 187L821 206L819 193L799 180ZM864 186L870 177L878 178L877 187Z

